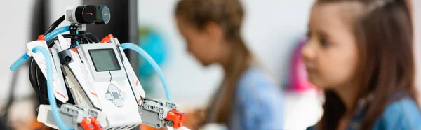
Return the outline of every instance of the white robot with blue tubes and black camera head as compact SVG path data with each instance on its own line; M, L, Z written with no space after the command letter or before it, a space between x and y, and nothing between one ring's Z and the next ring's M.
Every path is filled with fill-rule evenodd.
M14 71L32 57L29 80L41 103L37 120L54 129L120 130L139 124L187 129L185 113L172 103L159 66L144 50L119 43L112 34L99 41L85 32L86 24L107 24L110 15L107 6L66 8L44 35L27 43L28 51L11 66ZM55 29L64 20L71 24ZM71 38L70 43L65 38ZM135 50L154 66L167 100L146 97L125 49Z

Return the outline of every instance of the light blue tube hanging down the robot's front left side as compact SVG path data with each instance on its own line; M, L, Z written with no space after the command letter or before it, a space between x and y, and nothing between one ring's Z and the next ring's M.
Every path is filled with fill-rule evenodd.
M58 124L58 127L62 130L72 130L66 126L65 122L63 122L62 118L60 117L60 112L57 108L57 102L55 101L55 96L53 92L53 62L50 59L51 56L48 53L48 50L44 47L36 46L32 49L32 52L41 52L42 55L44 55L44 59L46 59L48 101L50 102L51 111L53 113L55 122Z

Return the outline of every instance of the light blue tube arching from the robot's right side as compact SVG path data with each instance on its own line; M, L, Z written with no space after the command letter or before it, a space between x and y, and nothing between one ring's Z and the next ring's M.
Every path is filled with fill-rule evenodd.
M163 90L165 91L167 100L173 102L173 99L171 98L171 94L170 94L170 89L168 87L168 83L166 82L165 78L163 77L163 73L161 71L161 68L159 68L158 64L156 64L154 59L149 54L147 54L147 52L145 50L143 50L138 45L135 45L133 43L123 43L123 44L121 44L121 48L123 48L123 50L131 49L131 50L134 50L135 52L138 52L140 55L142 55L142 57L144 57L147 60L147 62L149 62L149 64L152 65L152 68L154 68L156 73L158 73L158 77L162 82Z

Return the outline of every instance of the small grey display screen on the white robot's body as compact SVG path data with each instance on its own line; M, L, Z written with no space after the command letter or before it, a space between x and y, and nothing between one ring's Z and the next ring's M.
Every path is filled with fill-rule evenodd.
M88 50L97 72L120 70L119 62L112 48Z

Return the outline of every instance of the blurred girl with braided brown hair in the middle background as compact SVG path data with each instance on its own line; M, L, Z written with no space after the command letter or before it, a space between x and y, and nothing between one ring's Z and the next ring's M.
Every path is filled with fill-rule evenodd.
M225 75L205 110L187 115L185 125L222 124L229 129L282 129L281 89L255 64L241 38L239 0L180 0L175 19L187 51L203 64L222 66Z

